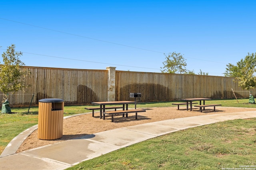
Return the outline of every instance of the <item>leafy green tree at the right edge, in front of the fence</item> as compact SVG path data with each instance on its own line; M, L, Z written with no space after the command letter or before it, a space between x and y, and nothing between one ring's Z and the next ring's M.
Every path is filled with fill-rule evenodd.
M234 77L238 86L250 90L256 87L256 56L254 53L246 55L236 65L226 65L224 76Z

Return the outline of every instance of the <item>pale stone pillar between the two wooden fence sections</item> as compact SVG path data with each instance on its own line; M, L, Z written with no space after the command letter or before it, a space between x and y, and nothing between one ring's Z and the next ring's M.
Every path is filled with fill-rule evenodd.
M108 101L113 102L116 98L116 67L106 67L108 70Z

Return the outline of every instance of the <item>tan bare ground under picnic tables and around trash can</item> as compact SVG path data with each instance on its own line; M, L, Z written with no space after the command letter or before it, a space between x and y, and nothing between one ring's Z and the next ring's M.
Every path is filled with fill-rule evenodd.
M177 107L150 107L144 109L146 109L146 112L138 113L138 119L135 119L135 113L130 113L128 114L128 117L116 115L114 116L114 122L111 122L110 116L106 116L105 120L100 119L98 112L94 113L94 117L92 117L92 113L88 113L64 119L62 138L55 140L41 140L38 139L38 130L36 130L31 133L31 135L28 136L27 139L22 143L20 148L17 150L17 153L24 150L34 149L37 147L57 143L60 141L81 137L84 135L90 135L102 131L108 131L111 129L143 123L206 114L208 115L220 113L234 113L241 111L256 111L255 108L234 107L216 107L216 111L214 111L211 107L206 107L206 109L202 113L198 108L193 108L192 111L187 111L186 107L180 107L180 110L177 110Z

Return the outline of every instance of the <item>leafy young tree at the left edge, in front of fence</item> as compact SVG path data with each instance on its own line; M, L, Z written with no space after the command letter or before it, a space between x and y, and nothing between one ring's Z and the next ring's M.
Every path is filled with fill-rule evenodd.
M13 44L2 54L3 64L0 63L0 91L3 93L2 103L8 100L8 94L10 92L17 92L28 86L25 83L25 78L30 72L20 67L25 65L19 59L21 55L21 52L15 51L15 45Z

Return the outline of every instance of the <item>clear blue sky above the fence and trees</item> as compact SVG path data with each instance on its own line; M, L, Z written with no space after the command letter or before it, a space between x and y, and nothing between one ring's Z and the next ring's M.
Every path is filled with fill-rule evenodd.
M188 70L223 76L256 52L255 0L4 1L0 53L26 66L161 72L165 54ZM0 59L2 63L2 57Z

